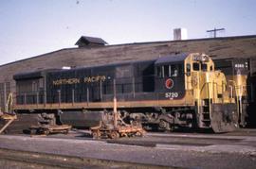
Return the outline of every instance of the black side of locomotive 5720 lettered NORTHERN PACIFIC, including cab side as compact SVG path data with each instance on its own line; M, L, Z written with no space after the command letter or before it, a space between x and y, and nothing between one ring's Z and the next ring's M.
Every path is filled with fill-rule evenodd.
M18 74L17 104L112 102L114 93L118 101L166 100L167 92L179 99L185 94L183 59Z

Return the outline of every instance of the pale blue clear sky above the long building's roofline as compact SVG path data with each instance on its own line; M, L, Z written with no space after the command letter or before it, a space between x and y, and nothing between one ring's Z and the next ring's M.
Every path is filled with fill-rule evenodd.
M0 64L75 47L82 36L109 44L256 34L256 0L1 0Z

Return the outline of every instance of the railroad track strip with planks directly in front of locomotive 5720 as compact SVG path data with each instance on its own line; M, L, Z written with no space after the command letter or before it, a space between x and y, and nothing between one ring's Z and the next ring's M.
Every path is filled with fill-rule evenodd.
M25 135L27 137L27 135ZM57 134L33 137L46 137L70 140L95 141L88 130L71 131L67 135ZM155 147L157 144L186 145L186 146L209 146L214 144L243 144L246 138L256 137L256 129L240 129L232 133L204 134L204 133L181 133L181 132L148 132L145 137L121 138L117 140L98 139L107 144L126 144Z

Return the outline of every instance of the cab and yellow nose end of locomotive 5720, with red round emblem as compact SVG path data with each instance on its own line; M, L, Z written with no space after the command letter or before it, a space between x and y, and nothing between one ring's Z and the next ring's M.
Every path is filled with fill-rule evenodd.
M155 61L155 92L169 100L174 126L234 130L237 111L225 75L205 54L178 54ZM176 104L183 100L181 106ZM189 104L190 103L190 104ZM170 116L170 115L169 115ZM169 117L168 117L169 118Z

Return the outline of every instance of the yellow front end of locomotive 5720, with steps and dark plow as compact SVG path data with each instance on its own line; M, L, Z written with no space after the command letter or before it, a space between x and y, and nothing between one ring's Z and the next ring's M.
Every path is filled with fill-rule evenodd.
M226 76L214 70L214 62L203 54L191 54L185 59L187 92L193 93L198 127L215 132L237 127L237 109L232 91L227 90Z

